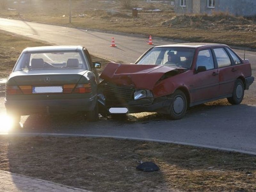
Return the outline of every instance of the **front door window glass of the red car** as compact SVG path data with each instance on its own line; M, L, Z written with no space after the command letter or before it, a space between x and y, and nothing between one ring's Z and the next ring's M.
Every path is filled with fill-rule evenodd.
M199 51L196 61L196 67L204 66L206 70L214 68L212 52L210 49Z

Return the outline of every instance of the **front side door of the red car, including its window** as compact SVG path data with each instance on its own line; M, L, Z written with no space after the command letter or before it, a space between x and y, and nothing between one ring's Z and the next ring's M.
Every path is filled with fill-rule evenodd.
M206 71L197 72L200 66L205 67ZM194 77L189 87L192 102L203 102L218 96L218 69L215 68L211 49L198 52Z

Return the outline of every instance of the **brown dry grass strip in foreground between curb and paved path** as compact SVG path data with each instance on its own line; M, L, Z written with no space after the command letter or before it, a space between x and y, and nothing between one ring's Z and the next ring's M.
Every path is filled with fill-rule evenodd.
M95 192L256 190L255 156L174 144L0 136L0 154L1 170ZM140 161L160 171L137 171Z

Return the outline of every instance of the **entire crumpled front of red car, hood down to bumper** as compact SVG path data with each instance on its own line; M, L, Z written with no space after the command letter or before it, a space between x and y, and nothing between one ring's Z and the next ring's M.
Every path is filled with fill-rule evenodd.
M101 74L98 86L100 111L105 113L160 112L169 113L173 99L156 97L156 83L174 68L156 65L110 63ZM113 109L113 110L112 110ZM115 109L115 110L114 110ZM122 110L122 109L127 109Z

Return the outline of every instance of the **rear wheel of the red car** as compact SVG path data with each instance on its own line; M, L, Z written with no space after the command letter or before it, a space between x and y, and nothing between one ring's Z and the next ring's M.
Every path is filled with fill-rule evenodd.
M232 105L238 105L244 99L244 83L241 79L237 79L232 92L232 97L228 97L228 102Z

